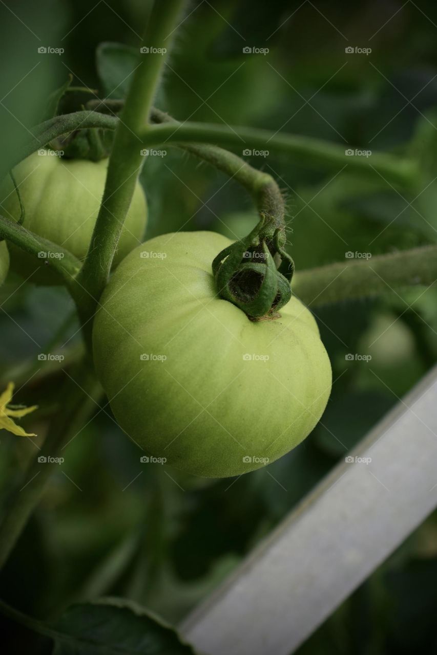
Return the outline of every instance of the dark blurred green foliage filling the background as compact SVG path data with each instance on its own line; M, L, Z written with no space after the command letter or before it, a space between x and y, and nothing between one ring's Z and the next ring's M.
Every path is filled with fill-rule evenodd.
M147 5L140 0L108 0L94 8L85 0L2 3L3 163L26 138L26 129L47 117L49 94L68 73L75 86L93 88L99 97L123 97L126 84L113 89L132 65L129 49L98 47L122 43L136 49ZM198 5L192 3L194 11L178 33L156 102L175 118L249 124L400 155L417 148L417 134L427 134L423 187L429 185L419 198L418 191L394 189L376 173L350 174L347 166L327 173L285 155L251 158L278 179L287 196L289 252L297 271L344 261L346 251L375 255L435 242L435 3ZM41 45L65 52L39 56ZM244 46L269 52L243 54ZM348 55L348 46L372 52ZM68 94L62 111L80 109L90 98L94 95ZM178 149L149 157L141 179L150 207L146 236L184 226L236 237L257 220L232 180ZM37 361L37 354L48 348L62 352L66 370L77 358L81 345L72 303L60 289L35 288L10 276L0 289L0 308L2 386L14 379L21 387L17 402L39 404L24 425L43 435L64 373ZM60 618L72 603L124 597L175 624L215 588L436 361L435 286L401 294L387 288L379 299L314 312L335 383L322 422L302 445L266 470L238 479L186 477L159 464L141 465L135 445L104 401L64 451L64 464L2 572L3 600L72 634L72 617L83 610ZM371 355L371 361L350 362L347 353ZM2 432L0 447L1 491L7 498L35 445ZM434 652L436 589L434 514L299 653ZM135 624L133 615L129 620ZM20 633L22 652L49 652L51 635L15 629L13 618L7 623L14 640ZM165 641L173 637L159 633L156 638L162 640L156 652L188 652ZM94 652L63 650L54 643L56 653ZM149 652L134 650L138 644L131 644L132 652Z

